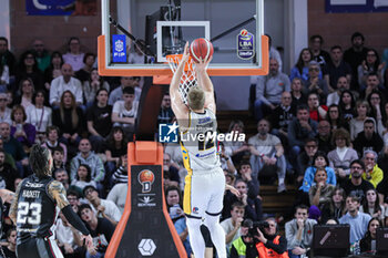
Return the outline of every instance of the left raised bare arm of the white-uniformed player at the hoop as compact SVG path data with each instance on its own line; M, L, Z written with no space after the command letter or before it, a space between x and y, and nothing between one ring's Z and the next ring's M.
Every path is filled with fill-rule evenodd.
M180 94L180 83L183 74L183 69L188 60L188 42L184 47L184 52L180 64L171 80L170 84L170 97L171 97L171 107L177 120L187 120L187 106L182 102Z

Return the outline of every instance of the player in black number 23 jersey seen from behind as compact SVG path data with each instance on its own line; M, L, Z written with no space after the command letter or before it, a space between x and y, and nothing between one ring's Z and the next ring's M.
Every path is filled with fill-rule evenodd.
M18 258L63 257L53 236L60 209L69 223L82 233L88 251L95 254L92 237L71 208L62 183L51 176L53 161L50 151L33 145L29 162L33 175L20 182L9 214L17 225Z

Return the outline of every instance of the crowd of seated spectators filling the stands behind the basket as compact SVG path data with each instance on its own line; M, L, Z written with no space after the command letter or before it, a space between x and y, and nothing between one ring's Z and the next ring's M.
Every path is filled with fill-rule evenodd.
M252 103L257 134L219 146L226 183L238 192L225 190L221 218L231 258L270 251L305 257L316 224L349 224L350 244L372 251L376 227L388 225L388 56L366 48L359 32L350 40L349 49L334 45L326 52L324 39L313 35L289 74L272 47L269 74L252 80L257 82ZM96 55L82 52L80 39L71 38L68 47L67 53L50 53L34 40L17 60L0 38L0 187L14 190L32 173L28 153L33 144L50 148L53 177L67 188L103 256L124 209L126 145L143 79L102 78ZM129 60L143 62L144 56L134 51ZM157 124L172 121L165 94ZM228 132L244 130L242 121L231 121ZM164 151L166 204L190 257L182 208L187 171L178 144L165 144ZM286 184L298 188L285 236L279 219L263 213L259 183L276 183L278 193L287 190ZM257 221L265 224L252 234ZM10 219L4 230L1 245L14 254ZM57 240L64 257L85 256L79 234L62 215Z

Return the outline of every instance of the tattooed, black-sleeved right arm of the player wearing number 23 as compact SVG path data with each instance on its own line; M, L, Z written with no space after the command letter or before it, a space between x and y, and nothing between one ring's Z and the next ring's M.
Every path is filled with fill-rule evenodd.
M55 200L58 207L61 209L62 214L69 220L69 223L76 230L82 233L83 239L85 239L88 249L94 249L93 239L90 236L88 228L82 223L81 218L71 208L69 200L67 198L67 190L64 189L62 183L58 180L53 180L49 185L49 195Z

